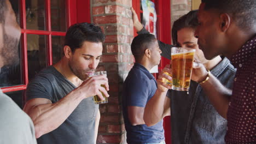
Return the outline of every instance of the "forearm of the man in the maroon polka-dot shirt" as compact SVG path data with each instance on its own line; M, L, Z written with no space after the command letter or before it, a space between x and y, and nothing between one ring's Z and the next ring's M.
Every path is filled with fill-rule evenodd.
M223 86L222 83L220 83L220 81L212 74L210 74L209 77L210 79L208 81L201 83L203 92L205 92L219 115L226 118L232 91Z

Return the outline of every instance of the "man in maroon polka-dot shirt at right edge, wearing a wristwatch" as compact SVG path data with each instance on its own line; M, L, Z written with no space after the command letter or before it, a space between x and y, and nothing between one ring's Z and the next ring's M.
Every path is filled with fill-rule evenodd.
M255 143L256 105L256 1L204 0L195 36L207 59L223 55L237 68L232 91L202 67L195 65L192 79L202 88L220 115L228 120L226 143ZM231 97L229 97L232 95Z

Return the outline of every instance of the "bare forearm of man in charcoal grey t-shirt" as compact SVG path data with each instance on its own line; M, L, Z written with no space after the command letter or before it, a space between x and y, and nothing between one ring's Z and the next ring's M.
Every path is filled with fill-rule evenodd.
M55 104L42 104L27 111L40 137L58 128L83 100L79 93L71 92Z

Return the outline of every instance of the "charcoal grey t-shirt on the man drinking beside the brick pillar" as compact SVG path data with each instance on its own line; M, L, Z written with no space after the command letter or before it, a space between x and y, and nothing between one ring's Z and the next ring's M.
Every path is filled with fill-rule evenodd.
M41 70L28 83L27 100L34 98L49 99L56 103L76 87L59 73L53 66ZM37 139L39 144L91 144L95 143L95 118L98 105L92 98L84 99L60 127Z

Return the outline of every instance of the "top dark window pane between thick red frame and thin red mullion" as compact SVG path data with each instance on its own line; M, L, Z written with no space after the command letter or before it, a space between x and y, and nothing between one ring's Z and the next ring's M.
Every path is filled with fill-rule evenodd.
M26 0L27 29L45 30L45 7L42 0Z

